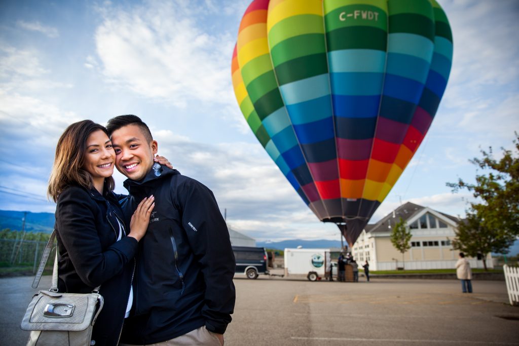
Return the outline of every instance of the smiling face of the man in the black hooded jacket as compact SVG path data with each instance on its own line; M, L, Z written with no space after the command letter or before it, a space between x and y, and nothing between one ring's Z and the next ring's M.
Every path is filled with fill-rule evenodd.
M148 142L141 129L130 124L112 133L115 167L132 180L141 180L152 168L157 141Z

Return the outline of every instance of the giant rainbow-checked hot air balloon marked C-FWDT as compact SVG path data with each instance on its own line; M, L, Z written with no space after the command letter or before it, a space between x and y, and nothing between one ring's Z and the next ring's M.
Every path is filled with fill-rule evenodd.
M424 139L452 55L434 0L254 0L231 72L258 141L351 246Z

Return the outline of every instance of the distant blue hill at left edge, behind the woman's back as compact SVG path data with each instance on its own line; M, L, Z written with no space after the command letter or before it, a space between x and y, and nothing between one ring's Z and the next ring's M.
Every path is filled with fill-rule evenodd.
M9 228L13 231L21 231L23 212L12 210L0 210L0 229ZM27 212L25 230L29 232L52 232L54 228L53 213Z

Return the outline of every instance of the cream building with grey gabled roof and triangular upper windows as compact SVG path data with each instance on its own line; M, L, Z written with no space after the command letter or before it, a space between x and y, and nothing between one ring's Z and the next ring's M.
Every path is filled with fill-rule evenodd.
M411 230L411 248L402 254L391 244L391 227L405 220ZM455 268L459 251L453 250L450 240L456 237L454 230L460 219L440 213L429 207L407 202L399 206L376 224L367 225L353 244L353 257L363 264L370 263L370 270L443 269ZM471 268L483 268L483 261L467 257ZM493 268L491 255L486 265Z

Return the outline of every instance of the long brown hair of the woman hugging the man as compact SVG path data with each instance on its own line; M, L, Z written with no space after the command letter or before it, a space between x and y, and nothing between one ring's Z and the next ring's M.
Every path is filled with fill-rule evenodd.
M108 136L104 126L92 120L83 120L71 124L61 135L47 188L47 196L54 202L58 201L60 193L69 185L77 184L88 189L93 187L92 176L83 169L83 164L88 136L98 130ZM115 187L114 178L105 178L105 184L112 191Z

